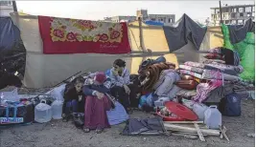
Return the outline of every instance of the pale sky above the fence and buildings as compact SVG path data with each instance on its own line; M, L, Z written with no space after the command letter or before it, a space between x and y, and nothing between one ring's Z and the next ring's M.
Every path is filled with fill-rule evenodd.
M175 14L176 20L187 13L192 19L210 17L210 8L219 1L17 1L18 10L35 15L99 20L106 16L136 15L147 9L149 14ZM222 5L254 4L254 1L221 1Z

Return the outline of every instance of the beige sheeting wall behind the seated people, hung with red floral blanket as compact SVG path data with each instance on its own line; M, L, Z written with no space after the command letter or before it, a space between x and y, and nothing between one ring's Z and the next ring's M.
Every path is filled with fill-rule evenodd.
M155 59L159 56L154 55L153 52L169 52L162 27L147 26L143 23L145 49L152 50L152 53L147 56L105 53L44 54L38 17L35 15L23 16L16 13L11 13L11 16L14 24L21 31L20 35L27 51L23 84L28 88L51 87L80 71L99 72L99 69L106 71L112 67L112 63L117 58L122 58L127 62L130 73L137 73L142 61L147 58ZM134 22L132 24L134 25L128 24L129 43L132 51L138 51L136 46L136 43L139 45L138 24ZM184 59L192 60L190 58L194 58L198 54L194 51L196 48L189 41L187 45L177 50L177 53L167 53L164 56L178 67L178 64L184 62ZM191 55L192 53L194 54Z

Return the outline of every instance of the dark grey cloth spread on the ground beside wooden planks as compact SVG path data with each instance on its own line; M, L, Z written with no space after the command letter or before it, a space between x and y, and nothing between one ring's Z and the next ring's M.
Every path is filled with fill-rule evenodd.
M127 125L123 130L123 136L135 136L135 135L163 135L165 129L163 126L162 118L130 118L127 121Z

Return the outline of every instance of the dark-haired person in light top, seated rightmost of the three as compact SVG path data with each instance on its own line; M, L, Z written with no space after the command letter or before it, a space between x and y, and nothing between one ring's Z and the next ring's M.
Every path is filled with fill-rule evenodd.
M113 68L110 70L111 94L116 97L128 112L129 99L129 72L126 68L126 61L116 59Z

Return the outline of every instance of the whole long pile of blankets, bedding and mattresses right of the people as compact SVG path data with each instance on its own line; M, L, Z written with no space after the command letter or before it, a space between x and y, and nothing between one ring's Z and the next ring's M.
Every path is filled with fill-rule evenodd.
M175 65L159 60L143 67L139 73L143 91L139 108L155 111L159 101L164 108L164 102L181 102L181 98L211 105L219 104L228 94L247 97L246 83L239 77L244 72L239 54L225 48L203 53L207 53L203 63L187 61L175 69Z

